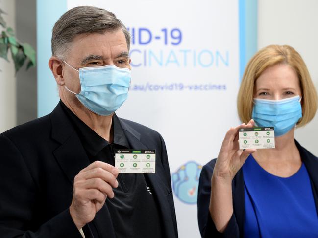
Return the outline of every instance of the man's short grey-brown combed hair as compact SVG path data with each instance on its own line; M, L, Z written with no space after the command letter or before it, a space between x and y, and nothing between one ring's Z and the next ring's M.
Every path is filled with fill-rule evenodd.
M52 55L64 58L73 39L84 33L114 32L122 29L126 38L128 51L130 34L115 14L105 9L92 6L79 6L64 13L55 23L52 31Z

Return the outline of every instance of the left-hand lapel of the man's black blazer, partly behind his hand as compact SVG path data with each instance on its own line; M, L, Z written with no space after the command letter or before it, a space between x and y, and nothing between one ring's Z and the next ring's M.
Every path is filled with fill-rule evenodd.
M74 177L87 167L90 161L72 123L59 104L51 113L51 123L52 138L61 143L53 151L53 155L73 187ZM106 205L96 213L91 223L89 225L96 226L99 237L115 238L113 224Z

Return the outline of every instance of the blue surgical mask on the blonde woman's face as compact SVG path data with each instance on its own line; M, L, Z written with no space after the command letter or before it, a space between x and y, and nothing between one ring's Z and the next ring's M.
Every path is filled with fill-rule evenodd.
M252 118L258 127L274 127L275 136L290 131L302 117L299 96L282 100L254 98Z

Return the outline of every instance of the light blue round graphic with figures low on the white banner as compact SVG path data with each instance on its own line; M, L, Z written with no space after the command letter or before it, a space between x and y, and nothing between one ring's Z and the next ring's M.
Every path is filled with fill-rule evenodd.
M172 173L172 189L180 201L196 204L201 170L201 165L195 161L189 161Z

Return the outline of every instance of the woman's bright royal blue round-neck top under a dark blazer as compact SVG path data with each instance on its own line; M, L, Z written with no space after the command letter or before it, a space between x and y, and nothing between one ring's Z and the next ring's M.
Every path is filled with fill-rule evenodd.
M318 238L318 216L307 169L282 178L250 155L243 165L245 238Z

